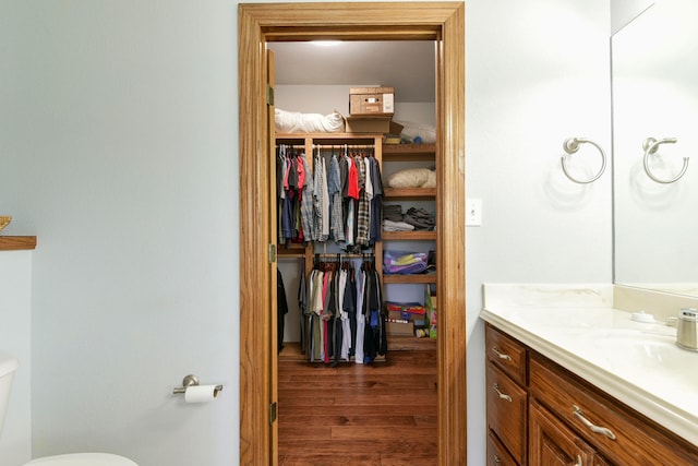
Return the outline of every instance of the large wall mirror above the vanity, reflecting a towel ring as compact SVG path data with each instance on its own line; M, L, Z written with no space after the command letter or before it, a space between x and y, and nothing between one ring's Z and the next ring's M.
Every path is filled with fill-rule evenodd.
M612 36L614 282L698 296L698 2L658 0ZM647 156L643 141L663 140ZM685 175L676 177L689 157Z

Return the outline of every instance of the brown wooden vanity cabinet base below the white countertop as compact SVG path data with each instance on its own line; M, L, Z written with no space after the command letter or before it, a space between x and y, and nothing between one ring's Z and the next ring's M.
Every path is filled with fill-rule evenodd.
M501 440L519 465L698 465L697 446L491 324L485 325L485 344L489 434ZM492 351L491 345L497 351ZM517 368L508 366L512 361L496 356L503 347L508 348L506 345L514 345L521 355L519 365L527 368L522 384L515 384L505 374L518 373ZM504 385L506 379L525 393ZM510 407L513 415L503 415L493 383L516 393L513 399L526 397L527 414L521 416ZM517 430L519 437L515 435ZM524 446L519 449L510 440L514 438L525 439ZM496 449L495 442L488 442L489 458L501 455ZM517 456L521 451L526 454Z

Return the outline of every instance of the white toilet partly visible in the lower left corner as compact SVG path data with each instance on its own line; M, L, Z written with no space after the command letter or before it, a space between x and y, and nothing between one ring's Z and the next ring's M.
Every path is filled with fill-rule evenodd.
M10 401L14 372L20 366L16 358L0 351L0 434ZM72 453L32 459L24 466L139 466L131 459L109 453Z

